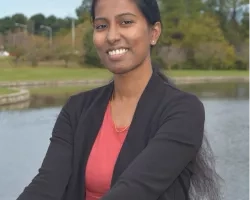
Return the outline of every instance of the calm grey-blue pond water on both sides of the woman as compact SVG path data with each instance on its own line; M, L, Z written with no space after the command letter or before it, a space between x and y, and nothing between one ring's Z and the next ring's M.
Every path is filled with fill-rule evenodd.
M225 181L225 200L249 200L250 84L179 87L197 94L205 105L206 132ZM56 97L33 94L26 106L0 111L1 200L15 200L37 173L57 114L69 95L65 90Z

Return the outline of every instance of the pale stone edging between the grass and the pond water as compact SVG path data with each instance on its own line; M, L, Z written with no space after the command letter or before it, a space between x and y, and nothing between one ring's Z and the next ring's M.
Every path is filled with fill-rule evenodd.
M170 79L177 85L203 84L203 83L250 83L250 76L201 76L201 77L174 77ZM5 81L0 82L0 87L18 89L18 92L0 95L0 106L15 105L30 100L29 88L62 87L62 86L101 86L107 84L110 79L93 80L58 80L58 81Z

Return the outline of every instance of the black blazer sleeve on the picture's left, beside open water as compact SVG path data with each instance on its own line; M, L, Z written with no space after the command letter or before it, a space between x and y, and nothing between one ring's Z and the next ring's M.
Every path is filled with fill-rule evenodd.
M70 100L63 106L55 122L50 145L38 174L17 200L59 200L71 174L72 126Z

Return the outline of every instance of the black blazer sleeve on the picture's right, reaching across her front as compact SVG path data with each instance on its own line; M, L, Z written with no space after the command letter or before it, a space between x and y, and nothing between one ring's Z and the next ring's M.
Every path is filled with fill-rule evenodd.
M169 102L147 147L101 200L156 200L195 158L203 139L204 107L193 95L178 96Z

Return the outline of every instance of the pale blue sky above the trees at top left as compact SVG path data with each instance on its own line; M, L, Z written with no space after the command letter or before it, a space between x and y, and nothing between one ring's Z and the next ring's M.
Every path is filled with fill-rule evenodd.
M0 0L0 18L23 13L27 17L42 13L45 16L76 16L75 9L82 0Z

